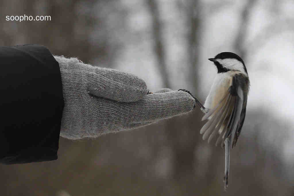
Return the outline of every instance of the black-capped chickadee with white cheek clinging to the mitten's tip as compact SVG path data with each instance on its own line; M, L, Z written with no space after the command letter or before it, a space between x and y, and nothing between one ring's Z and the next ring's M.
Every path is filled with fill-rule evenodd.
M210 92L201 110L205 113L202 120L208 119L200 130L203 140L208 143L219 135L216 145L225 146L225 189L228 187L230 168L230 149L236 145L246 113L249 78L240 56L232 52L222 52L209 58L218 69ZM233 142L232 142L233 135Z

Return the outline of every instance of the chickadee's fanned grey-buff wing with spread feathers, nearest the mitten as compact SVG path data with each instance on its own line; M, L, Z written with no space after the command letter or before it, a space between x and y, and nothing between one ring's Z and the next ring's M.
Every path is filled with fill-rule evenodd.
M244 93L242 90L242 78L244 78L244 76L243 74L234 74L231 77L232 80L228 91L218 105L203 116L202 120L208 119L208 121L200 130L201 134L204 133L203 140L208 138L208 142L218 133L219 137L216 141L216 145L222 142L222 147L228 136L231 134L240 135L240 130L245 118L245 109L242 109L244 108ZM245 96L247 97L247 95ZM235 138L234 141L237 141L238 136L235 136Z

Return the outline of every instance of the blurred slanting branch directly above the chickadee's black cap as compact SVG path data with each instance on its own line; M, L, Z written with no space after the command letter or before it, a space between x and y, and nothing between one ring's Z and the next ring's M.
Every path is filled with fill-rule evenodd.
M240 28L235 39L234 48L236 53L242 58L245 58L246 56L246 50L245 47L243 47L243 44L248 30L250 11L255 2L256 0L249 0L241 12Z

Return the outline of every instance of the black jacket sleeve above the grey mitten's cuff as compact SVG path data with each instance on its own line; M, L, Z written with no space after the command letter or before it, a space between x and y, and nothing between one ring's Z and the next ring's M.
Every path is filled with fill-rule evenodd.
M0 163L56 160L64 99L48 48L0 46L0 92Z

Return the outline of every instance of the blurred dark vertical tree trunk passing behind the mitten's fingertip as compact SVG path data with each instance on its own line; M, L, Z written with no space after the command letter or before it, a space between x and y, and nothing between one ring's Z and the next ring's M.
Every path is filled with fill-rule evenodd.
M200 2L189 0L185 2L185 13L187 21L187 86L193 93L197 94L197 64L199 58L199 43L201 40L201 18L200 18ZM199 108L196 107L196 110ZM173 149L173 178L181 183L185 189L194 189L195 183L195 148L200 139L200 116L201 112L194 111L188 116L179 117L171 120L167 125L167 134ZM187 183L187 181L189 183ZM185 183L184 183L185 182ZM188 190L187 190L188 191ZM190 191L190 192L191 192ZM189 191L188 191L189 192Z

